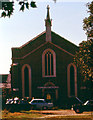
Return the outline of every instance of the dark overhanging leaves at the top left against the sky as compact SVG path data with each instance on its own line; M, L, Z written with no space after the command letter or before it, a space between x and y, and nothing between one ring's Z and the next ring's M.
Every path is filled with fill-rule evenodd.
M29 9L30 7L32 8L37 8L36 2L35 1L28 1L28 0L16 0L18 4L20 5L20 11L24 11L25 8ZM56 0L53 0L56 2ZM14 11L14 2L0 2L0 9L2 10L1 17L10 17L13 14Z

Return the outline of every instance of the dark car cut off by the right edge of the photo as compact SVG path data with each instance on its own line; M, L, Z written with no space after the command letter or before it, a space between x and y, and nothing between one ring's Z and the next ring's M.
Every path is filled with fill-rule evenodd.
M84 111L93 111L93 100L87 100L83 104L77 104L73 106L76 113L82 113Z

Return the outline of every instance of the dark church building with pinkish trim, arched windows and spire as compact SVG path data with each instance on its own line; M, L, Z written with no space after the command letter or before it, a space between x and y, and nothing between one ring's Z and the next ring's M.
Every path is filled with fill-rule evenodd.
M79 73L73 63L78 46L53 32L51 22L47 6L46 30L12 48L11 87L16 96L51 99L60 105L79 96Z

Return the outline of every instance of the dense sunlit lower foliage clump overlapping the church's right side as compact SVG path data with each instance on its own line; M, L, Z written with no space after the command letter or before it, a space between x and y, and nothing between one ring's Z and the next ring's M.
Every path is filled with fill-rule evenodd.
M83 80L91 80L93 77L93 55L92 55L93 40L83 41L79 44L79 51L76 52L74 63L80 69Z

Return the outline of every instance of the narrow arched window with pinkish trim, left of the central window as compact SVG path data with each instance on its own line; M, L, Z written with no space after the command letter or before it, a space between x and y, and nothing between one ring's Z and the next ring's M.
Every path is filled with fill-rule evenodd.
M31 68L28 64L22 67L22 97L31 97Z

